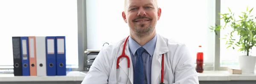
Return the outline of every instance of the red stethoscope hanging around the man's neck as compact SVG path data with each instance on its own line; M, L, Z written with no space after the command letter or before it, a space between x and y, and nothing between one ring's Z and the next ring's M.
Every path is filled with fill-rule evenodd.
M126 38L126 40L125 40L125 44L124 44L124 47L123 47L123 50L122 50L122 54L117 58L117 62L116 62L116 82L117 82L117 84L118 84L118 68L119 68L119 60L122 58L122 57L126 57L126 59L127 59L127 67L128 67L128 77L129 77L129 69L130 69L130 59L129 59L129 57L127 56L127 55L125 55L125 46L126 46L126 43L127 43L127 41L128 41L128 38L129 38L129 36ZM163 64L164 64L164 61L163 61L163 54L162 54L162 66L161 66L161 83L160 84L164 84L163 83ZM127 77L127 81L128 81L128 78ZM126 82L127 82L126 81Z

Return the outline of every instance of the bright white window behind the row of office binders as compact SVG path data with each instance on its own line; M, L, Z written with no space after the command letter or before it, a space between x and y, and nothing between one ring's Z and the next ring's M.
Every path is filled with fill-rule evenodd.
M78 67L77 0L1 0L0 65L13 65L12 36L66 36L67 66Z

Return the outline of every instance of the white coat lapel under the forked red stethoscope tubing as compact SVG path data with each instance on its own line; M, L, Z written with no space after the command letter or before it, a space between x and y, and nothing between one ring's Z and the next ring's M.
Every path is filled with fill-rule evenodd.
M123 44L124 45L124 44ZM121 45L121 46L123 46ZM121 47L119 49L119 52L121 52L120 54L122 54L122 49L123 47ZM133 84L133 79L134 79L134 72L133 72L133 66L132 66L132 61L131 61L131 54L129 51L129 43L126 43L125 46L125 54L129 57L130 59L130 68L128 68L128 64L127 64L127 59L126 57L122 57L119 61L119 70L123 70L126 74L126 77L128 76L128 70L129 70L129 80L128 80L128 84ZM126 77L122 77L122 78L126 78ZM130 83L129 83L130 82Z

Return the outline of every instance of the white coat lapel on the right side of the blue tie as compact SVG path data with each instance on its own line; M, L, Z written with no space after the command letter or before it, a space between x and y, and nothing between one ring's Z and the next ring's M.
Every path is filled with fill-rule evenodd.
M164 54L166 58L166 52L168 52L168 46L166 41L164 41L163 37L157 34L157 43L154 50L152 64L151 64L151 84L157 84L157 81L161 79L161 62L162 62L162 54Z

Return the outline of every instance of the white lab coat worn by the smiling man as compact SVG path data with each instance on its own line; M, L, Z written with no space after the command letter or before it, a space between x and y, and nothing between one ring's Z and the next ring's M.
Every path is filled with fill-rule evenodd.
M116 60L122 54L125 39L102 48L81 84L117 84ZM127 59L122 57L118 69L119 84L133 84L134 80L128 45L127 42L125 54L130 58L130 68L127 68ZM195 60L192 60L192 55L189 54L186 45L164 38L159 34L157 34L157 43L152 59L151 84L160 84L161 82L162 54L164 54L165 84L199 84L194 67ZM128 70L129 79L127 78Z

